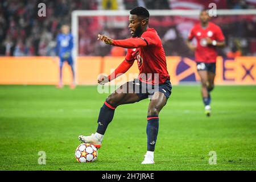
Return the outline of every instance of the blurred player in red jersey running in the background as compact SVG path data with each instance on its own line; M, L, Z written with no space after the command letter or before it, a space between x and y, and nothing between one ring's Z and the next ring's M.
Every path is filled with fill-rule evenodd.
M196 24L188 35L187 45L195 51L197 72L201 78L201 95L205 105L205 114L209 117L210 92L214 88L214 77L216 73L217 47L225 46L225 38L221 28L209 22L207 10L200 13L200 23ZM197 46L191 44L193 38L197 40Z

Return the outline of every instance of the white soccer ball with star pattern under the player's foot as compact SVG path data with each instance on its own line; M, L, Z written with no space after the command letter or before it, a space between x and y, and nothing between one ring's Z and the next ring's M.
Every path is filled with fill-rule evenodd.
M80 144L75 151L75 157L79 163L91 163L97 159L97 148L90 143Z

